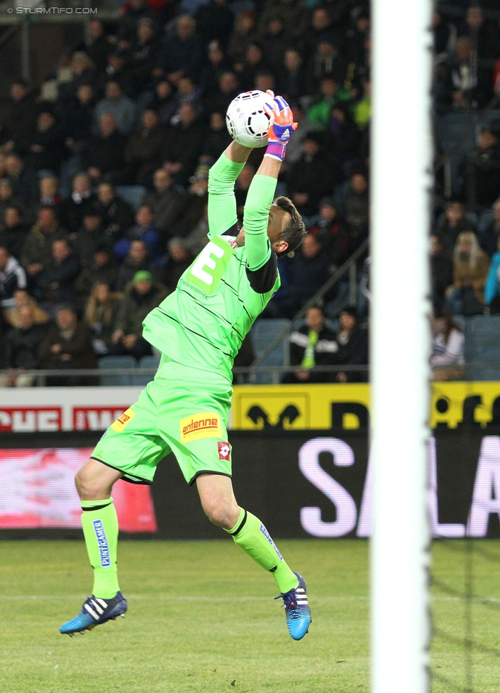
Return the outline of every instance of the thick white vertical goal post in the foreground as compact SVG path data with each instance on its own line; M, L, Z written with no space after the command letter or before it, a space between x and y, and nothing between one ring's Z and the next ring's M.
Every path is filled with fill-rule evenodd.
M432 5L372 0L372 16L371 690L427 693Z

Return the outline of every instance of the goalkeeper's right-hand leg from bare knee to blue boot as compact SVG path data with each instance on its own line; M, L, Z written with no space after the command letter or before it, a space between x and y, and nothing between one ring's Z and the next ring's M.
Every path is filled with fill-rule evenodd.
M211 522L226 530L250 558L272 573L284 600L290 635L294 640L303 638L311 623L304 579L289 568L261 521L238 506L228 476L203 474L197 477L196 486Z

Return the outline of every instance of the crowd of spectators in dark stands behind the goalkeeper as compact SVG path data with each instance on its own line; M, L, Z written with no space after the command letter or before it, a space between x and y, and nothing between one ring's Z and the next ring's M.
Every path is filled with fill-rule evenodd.
M482 108L500 84L499 21L485 19L488 2L468 5L459 18L435 11L440 113ZM206 243L208 170L230 141L228 104L248 89L274 89L291 104L299 127L278 193L309 230L279 260L282 288L265 317L294 317L361 246L370 231L369 2L130 0L118 21L91 21L87 42L62 55L40 89L14 80L0 104L0 366L85 368L105 354L151 353L143 318ZM240 218L262 154L238 178ZM433 301L462 315L500 312L500 126L483 129L461 170L462 193L435 213ZM466 212L471 177L477 206ZM345 285L325 300L343 337L332 337L337 349L325 347L328 335L317 339L321 358L366 363L366 334L352 349L357 361L339 361L352 356L341 340L362 329L355 310L341 313ZM361 322L368 305L358 306ZM307 344L297 334L292 346L309 358L311 329ZM13 371L1 382L30 379Z

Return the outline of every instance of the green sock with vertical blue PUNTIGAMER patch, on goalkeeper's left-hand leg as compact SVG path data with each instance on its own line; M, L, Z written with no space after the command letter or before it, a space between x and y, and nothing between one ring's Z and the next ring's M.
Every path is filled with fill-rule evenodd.
M116 567L118 517L113 498L82 501L82 528L91 566L94 568L92 594L111 599L120 589Z

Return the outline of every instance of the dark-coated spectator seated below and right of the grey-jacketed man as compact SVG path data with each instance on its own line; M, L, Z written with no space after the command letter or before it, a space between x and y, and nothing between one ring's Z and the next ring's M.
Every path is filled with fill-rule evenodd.
M161 163L167 136L156 111L146 109L140 121L140 126L128 140L125 150L127 178L135 185L150 187L152 173Z

